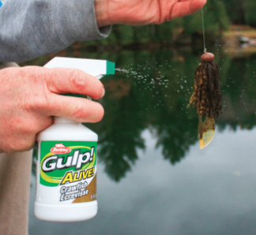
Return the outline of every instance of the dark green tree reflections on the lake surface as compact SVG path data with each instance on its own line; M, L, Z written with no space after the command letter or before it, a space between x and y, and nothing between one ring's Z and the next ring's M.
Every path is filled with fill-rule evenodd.
M81 58L107 59L120 69L115 76L102 79L107 91L100 100L105 109L104 120L86 124L99 134L99 160L112 180L120 181L132 170L138 159L137 150L145 150L141 132L146 129L156 137L155 147L171 164L185 158L198 142L198 115L187 104L194 91L199 54L200 51L193 54L190 50L166 49L81 52ZM232 59L220 50L215 54L221 68L224 100L216 129L252 129L256 125L256 56ZM61 55L76 57L68 52ZM40 58L32 64L43 65L49 59Z

